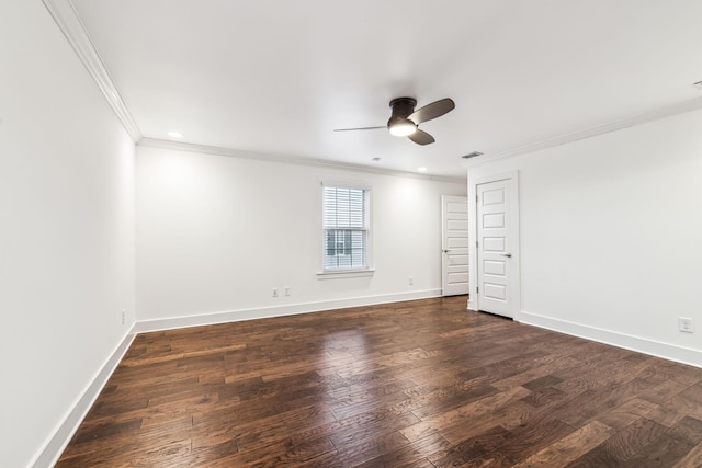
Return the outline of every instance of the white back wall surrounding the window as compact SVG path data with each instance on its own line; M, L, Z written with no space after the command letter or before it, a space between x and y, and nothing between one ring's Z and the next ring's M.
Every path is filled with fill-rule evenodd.
M466 192L465 183L162 148L137 147L136 164L143 329L439 295L441 195ZM317 277L322 180L372 186L372 277ZM273 298L284 286L291 296ZM229 313L207 317L217 312ZM185 317L194 318L168 320Z

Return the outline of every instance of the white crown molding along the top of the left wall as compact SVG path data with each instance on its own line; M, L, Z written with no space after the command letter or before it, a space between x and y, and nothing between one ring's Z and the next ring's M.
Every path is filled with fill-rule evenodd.
M70 0L42 0L48 12L54 18L66 39L71 45L80 61L83 62L88 72L93 78L98 88L107 100L110 106L117 115L120 122L126 129L132 140L136 144L141 139L141 132L136 125L134 117L124 104L122 96L117 92L104 62L100 58L98 50L90 39L82 21L76 12L76 8Z

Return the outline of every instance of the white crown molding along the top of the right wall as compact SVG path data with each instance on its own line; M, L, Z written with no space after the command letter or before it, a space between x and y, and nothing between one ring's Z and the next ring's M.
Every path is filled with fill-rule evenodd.
M466 161L464 163L464 167L473 168L476 165L480 165L483 163L494 162L500 159L508 159L508 158L513 158L516 156L521 156L530 152L550 149L556 146L566 145L566 144L578 141L581 139L609 134L612 132L621 130L621 129L633 127L636 125L659 121L666 117L671 117L673 115L698 111L700 109L702 109L702 98L695 98L692 100L678 102L676 104L658 107L653 111L643 112L641 114L636 114L619 121L613 121L607 124L596 125L593 127L584 128L580 130L558 135L556 137L546 138L540 141L533 141L517 148L511 148L508 150L497 151L497 152L486 152L483 156L479 156L477 158Z

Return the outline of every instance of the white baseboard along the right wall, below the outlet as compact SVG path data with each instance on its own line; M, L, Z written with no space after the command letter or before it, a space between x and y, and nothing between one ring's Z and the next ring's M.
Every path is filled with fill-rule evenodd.
M521 323L585 338L668 361L702 367L702 351L521 311Z

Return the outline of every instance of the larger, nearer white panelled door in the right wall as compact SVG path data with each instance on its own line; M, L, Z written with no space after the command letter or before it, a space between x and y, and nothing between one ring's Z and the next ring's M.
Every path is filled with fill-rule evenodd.
M478 308L514 318L519 238L514 179L476 185Z

